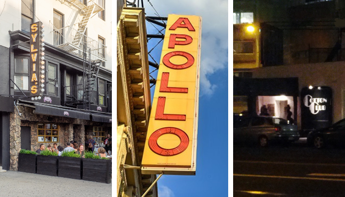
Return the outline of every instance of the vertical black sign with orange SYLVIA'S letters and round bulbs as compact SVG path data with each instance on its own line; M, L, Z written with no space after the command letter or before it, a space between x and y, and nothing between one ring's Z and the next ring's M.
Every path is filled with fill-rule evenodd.
M30 24L30 96L41 99L44 92L44 25L41 22Z

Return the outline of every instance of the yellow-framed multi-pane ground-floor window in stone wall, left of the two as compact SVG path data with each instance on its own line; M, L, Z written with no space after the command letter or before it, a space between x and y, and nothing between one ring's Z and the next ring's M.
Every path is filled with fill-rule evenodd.
M58 142L59 127L57 124L38 123L38 142Z

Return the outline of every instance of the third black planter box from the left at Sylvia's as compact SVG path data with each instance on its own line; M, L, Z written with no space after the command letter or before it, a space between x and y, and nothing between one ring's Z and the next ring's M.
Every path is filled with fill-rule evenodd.
M81 179L82 169L81 158L59 157L58 175L60 177Z

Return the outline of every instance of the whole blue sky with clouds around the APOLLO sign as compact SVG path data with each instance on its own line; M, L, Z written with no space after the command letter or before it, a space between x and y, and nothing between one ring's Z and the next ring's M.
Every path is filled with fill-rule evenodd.
M159 197L228 196L228 0L150 0L160 16L198 15L202 24L201 91L197 172L195 176L163 175ZM144 1L147 16L156 16ZM157 31L146 24L148 33ZM160 29L160 28L159 28ZM157 40L157 39L156 39ZM157 40L158 41L158 40ZM157 41L148 43L148 50ZM159 62L161 42L152 56ZM149 58L152 61L151 58ZM152 73L156 78L156 73ZM151 89L153 97L153 89Z

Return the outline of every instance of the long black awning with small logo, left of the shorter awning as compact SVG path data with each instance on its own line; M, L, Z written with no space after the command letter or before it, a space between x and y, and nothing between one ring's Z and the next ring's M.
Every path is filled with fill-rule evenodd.
M52 107L42 104L35 104L35 114L45 114L51 116L63 116L68 118L77 118L77 119L84 119L90 120L90 114L78 110L73 109L65 109L59 107Z

